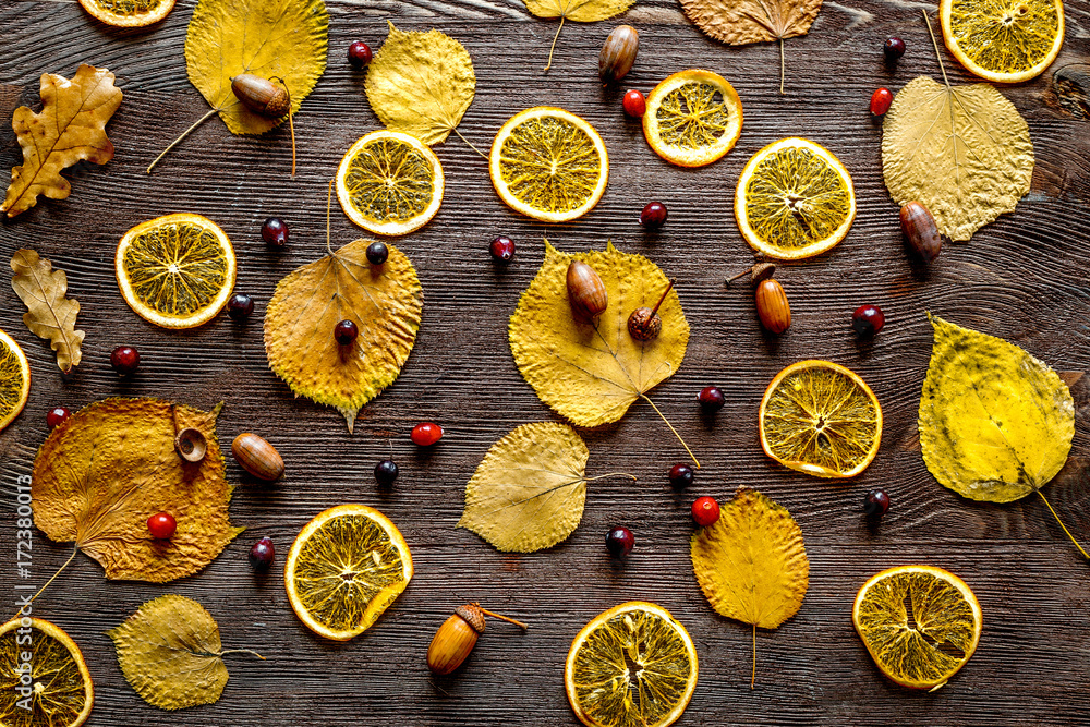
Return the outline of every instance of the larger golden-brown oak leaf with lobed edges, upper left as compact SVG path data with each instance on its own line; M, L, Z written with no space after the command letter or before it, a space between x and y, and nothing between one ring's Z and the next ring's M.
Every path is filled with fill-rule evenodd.
M11 170L11 185L0 211L14 217L38 204L38 195L64 199L72 185L61 170L81 160L105 165L113 158L106 122L121 106L121 89L107 69L83 64L72 80L41 76L41 111L15 109L11 128L23 148L23 163Z

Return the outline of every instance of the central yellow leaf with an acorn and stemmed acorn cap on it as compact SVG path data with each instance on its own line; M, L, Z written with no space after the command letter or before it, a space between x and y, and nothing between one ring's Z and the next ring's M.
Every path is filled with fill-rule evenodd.
M595 324L572 315L568 302L568 264L581 259L601 276L608 306ZM689 324L676 291L663 301L662 332L638 341L628 316L653 307L669 281L642 255L605 252L568 255L545 241L545 262L519 299L508 339L514 363L537 396L579 426L618 421L637 399L666 380L681 365Z

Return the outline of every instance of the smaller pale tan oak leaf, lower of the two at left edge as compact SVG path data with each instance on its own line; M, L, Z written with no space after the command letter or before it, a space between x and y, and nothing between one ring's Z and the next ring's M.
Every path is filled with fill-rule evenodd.
M65 374L80 365L85 332L75 329L80 302L68 298L68 276L33 250L16 250L11 258L12 290L26 304L23 323L35 336L48 339L57 365Z

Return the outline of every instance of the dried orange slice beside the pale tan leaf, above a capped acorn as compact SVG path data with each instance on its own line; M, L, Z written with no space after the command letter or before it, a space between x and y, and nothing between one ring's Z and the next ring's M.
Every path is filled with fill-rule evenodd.
M782 260L825 252L856 218L851 175L833 153L807 138L773 142L746 163L735 219L753 250Z

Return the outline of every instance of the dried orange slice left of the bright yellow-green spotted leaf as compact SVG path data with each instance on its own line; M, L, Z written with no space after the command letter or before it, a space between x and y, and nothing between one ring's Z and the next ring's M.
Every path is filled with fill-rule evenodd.
M853 477L882 441L882 408L855 372L800 361L772 379L761 400L761 447L780 464L819 477Z

